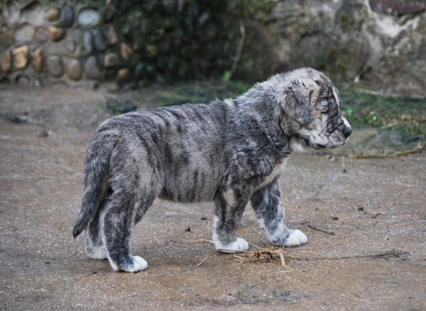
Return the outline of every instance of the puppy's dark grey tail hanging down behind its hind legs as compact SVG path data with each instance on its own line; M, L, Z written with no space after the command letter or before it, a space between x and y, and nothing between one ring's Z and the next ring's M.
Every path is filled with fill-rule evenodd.
M72 230L75 239L86 229L104 200L109 175L109 160L114 149L114 139L107 133L97 133L89 143L84 165L84 194L82 209Z

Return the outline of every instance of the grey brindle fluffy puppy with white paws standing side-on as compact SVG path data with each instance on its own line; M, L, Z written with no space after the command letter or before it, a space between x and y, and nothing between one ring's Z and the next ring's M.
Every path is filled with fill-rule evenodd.
M236 99L114 116L89 142L73 236L85 230L88 256L108 258L116 271L145 270L131 254L131 233L160 197L214 201L214 246L227 253L249 248L235 236L249 201L272 244L305 244L302 231L285 226L285 160L341 146L350 134L337 89L310 68L274 75Z

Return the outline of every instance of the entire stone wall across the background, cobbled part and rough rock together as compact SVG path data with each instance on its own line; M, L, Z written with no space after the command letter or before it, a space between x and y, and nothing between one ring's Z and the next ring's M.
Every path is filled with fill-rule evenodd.
M3 0L0 82L92 88L310 66L426 96L426 0ZM114 82L114 84L111 84Z

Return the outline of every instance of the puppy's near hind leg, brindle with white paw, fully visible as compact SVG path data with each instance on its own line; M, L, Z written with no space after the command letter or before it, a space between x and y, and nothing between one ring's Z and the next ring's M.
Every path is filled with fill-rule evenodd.
M113 192L102 214L104 249L115 271L143 271L148 263L131 254L131 233L160 193L162 178L146 163L135 167L119 162L111 175Z

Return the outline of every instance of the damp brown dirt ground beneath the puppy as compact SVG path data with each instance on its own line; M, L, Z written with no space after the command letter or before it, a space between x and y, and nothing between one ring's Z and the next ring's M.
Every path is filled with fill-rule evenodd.
M293 155L281 178L287 224L309 242L287 249L285 266L229 254L197 266L214 251L192 243L211 239L212 204L161 200L133 234L146 271L88 258L70 237L105 103L95 92L0 89L1 310L426 310L425 153ZM268 247L250 206L238 236Z

